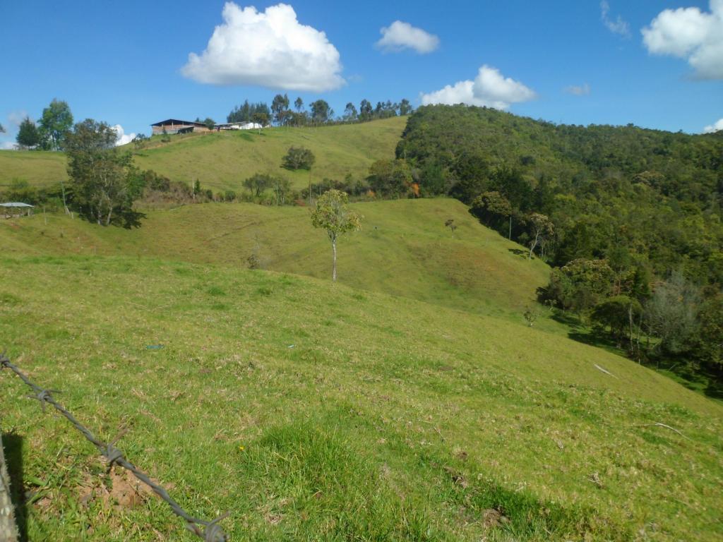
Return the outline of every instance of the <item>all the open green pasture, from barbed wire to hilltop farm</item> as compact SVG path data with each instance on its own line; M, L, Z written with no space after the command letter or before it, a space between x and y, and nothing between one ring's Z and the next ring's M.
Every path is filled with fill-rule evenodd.
M154 140L137 160L235 189L307 142L315 179L364 175L403 124ZM9 156L38 183L62 165ZM353 207L338 284L304 207L1 220L0 351L102 439L125 429L129 460L193 515L229 510L231 540L723 537L719 403L547 314L529 327L549 267L455 199ZM154 496L116 502L119 473L9 371L0 390L28 539L193 539Z

